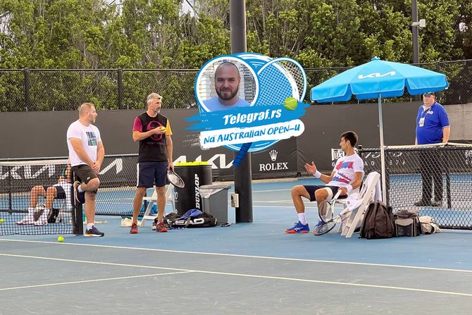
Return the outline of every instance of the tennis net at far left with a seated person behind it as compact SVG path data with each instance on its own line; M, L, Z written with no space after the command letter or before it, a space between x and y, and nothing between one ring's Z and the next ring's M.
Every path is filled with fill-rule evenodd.
M0 161L0 235L73 233L67 159Z

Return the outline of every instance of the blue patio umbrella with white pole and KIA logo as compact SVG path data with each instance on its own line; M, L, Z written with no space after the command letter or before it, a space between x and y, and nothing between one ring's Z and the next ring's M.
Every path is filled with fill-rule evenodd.
M446 80L446 75L442 73L404 63L382 61L380 58L374 57L368 63L346 70L313 87L310 93L311 101L318 101L319 103L349 101L353 94L356 99L378 99L384 201L386 201L386 190L382 98L400 97L403 95L405 87L410 95L418 95L426 92L442 91L449 87L449 83Z

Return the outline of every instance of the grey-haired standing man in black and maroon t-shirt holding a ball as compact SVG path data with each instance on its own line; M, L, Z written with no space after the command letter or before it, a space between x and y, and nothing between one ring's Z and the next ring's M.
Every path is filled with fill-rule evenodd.
M157 232L167 232L162 218L166 207L166 181L168 168L172 163L172 130L166 116L161 115L162 97L151 93L147 97L147 111L135 118L132 140L139 141L137 159L137 188L133 201L130 233L137 233L137 216L141 210L142 198L147 188L156 187L157 192Z

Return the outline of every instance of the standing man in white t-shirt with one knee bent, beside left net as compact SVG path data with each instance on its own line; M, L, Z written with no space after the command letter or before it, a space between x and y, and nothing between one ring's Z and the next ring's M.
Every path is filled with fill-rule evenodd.
M104 236L95 226L95 197L100 185L98 173L104 161L105 149L101 142L99 128L92 125L97 111L92 103L79 108L79 120L70 124L67 130L67 146L70 165L79 181L74 183L75 199L85 204L87 229L85 236Z

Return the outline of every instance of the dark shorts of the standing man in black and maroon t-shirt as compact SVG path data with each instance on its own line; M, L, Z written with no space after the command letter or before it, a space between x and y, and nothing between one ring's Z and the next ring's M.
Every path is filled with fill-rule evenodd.
M137 187L166 186L168 161L137 163Z

